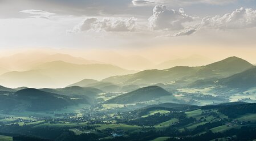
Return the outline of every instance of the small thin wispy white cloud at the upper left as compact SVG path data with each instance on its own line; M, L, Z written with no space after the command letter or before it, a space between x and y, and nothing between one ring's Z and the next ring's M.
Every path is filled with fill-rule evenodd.
M26 14L32 14L34 16L30 16L31 18L46 18L46 19L49 19L49 17L51 15L55 15L55 13L51 13L51 12L47 12L47 11L42 11L42 10L22 10L22 11L19 11L19 12L23 12L23 13L26 13Z

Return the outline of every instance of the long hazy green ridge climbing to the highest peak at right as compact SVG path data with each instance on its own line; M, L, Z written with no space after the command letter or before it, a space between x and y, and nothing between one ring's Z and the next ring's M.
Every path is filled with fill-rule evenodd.
M241 58L229 57L201 67L177 66L165 70L145 70L136 74L111 76L103 81L116 84L156 84L183 81L189 84L199 79L225 78L251 67L253 65Z

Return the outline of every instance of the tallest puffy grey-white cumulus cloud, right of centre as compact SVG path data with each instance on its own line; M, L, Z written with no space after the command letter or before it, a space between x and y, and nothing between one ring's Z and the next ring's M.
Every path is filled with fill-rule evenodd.
M180 30L184 29L183 24L192 22L195 18L185 14L180 8L179 11L169 10L165 5L156 5L153 8L153 15L148 19L149 28L153 30L169 29Z

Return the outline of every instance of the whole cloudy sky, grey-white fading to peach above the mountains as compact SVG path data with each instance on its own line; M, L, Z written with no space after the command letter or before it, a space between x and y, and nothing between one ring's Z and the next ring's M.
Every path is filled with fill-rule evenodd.
M0 31L0 54L48 48L95 59L105 50L256 63L256 0L0 0Z

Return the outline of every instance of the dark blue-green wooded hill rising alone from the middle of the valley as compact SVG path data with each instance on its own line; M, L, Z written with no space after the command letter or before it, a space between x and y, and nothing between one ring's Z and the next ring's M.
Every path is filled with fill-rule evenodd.
M170 96L171 93L159 86L149 86L136 89L135 91L125 93L123 95L107 100L106 103L113 104L132 104L148 100L155 100L161 96Z

